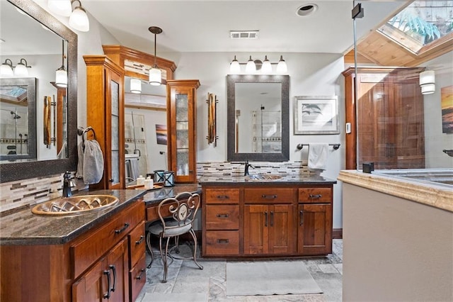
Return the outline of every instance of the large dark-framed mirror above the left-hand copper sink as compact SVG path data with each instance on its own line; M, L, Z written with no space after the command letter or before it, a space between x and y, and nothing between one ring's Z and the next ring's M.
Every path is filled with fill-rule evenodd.
M22 62L28 76L0 76L5 94L24 89L26 101L1 98L0 182L76 169L77 35L32 0L1 1L1 63ZM66 89L55 86L64 65ZM10 90L10 92L8 92ZM24 94L25 96L25 94Z

